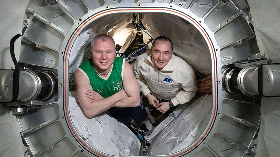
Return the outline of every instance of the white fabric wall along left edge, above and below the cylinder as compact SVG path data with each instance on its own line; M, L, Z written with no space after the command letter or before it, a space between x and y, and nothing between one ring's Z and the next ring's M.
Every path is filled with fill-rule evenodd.
M16 34L21 34L25 8L29 0L1 1L1 25L0 25L0 69L14 68L10 55L10 40ZM21 47L21 38L15 43L15 56L18 60ZM2 94L1 94L2 95ZM20 126L15 115L8 113L8 108L0 104L0 156L24 157L24 151L20 136Z

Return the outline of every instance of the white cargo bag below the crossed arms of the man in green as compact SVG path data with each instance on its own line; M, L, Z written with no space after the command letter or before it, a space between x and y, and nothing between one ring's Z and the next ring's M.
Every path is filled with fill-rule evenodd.
M69 96L69 112L79 136L92 148L109 155L140 154L139 139L109 114L101 113L94 118L87 118L76 96Z

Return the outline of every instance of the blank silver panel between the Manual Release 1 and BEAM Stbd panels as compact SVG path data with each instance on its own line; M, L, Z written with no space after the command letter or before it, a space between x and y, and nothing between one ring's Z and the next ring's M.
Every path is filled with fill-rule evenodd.
M39 45L36 45L37 47L43 45L55 50L61 48L64 40L64 35L36 18L32 20L32 25L29 26L23 37L34 43L38 43Z

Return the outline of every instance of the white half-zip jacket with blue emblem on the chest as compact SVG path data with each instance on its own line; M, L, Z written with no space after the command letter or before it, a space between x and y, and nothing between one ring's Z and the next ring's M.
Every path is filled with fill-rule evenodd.
M133 72L145 96L151 93L160 99L171 99L175 106L188 102L197 90L193 68L175 55L158 70L151 56L144 53L137 57Z

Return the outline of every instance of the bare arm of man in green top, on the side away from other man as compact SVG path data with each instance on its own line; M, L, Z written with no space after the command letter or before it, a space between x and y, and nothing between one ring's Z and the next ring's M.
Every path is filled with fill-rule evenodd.
M127 97L124 90L120 90L112 96L104 99L89 101L85 96L87 90L93 90L85 74L80 70L75 71L75 82L77 87L78 100L82 106L82 110L88 118L92 118L95 115L110 109L116 102Z

